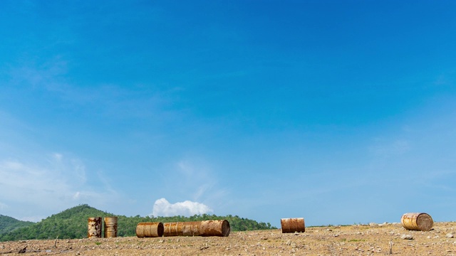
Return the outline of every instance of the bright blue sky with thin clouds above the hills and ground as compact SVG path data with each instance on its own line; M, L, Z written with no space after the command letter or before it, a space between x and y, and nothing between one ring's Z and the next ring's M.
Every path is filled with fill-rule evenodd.
M0 1L0 214L455 220L454 1Z

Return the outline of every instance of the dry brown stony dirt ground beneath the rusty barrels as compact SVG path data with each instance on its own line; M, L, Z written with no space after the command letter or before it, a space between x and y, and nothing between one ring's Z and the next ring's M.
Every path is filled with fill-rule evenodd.
M406 235L409 239L405 239ZM228 237L92 238L0 242L0 255L456 255L456 223L409 231L398 223L232 232Z

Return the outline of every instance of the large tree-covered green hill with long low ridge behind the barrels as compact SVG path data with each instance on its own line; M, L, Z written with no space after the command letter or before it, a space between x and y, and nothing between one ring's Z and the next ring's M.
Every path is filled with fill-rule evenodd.
M31 239L74 239L87 238L87 219L89 217L109 217L115 216L112 213L106 213L97 210L88 205L80 205L63 212L51 215L38 223L31 223L23 228L0 233L0 241L10 240L31 240ZM243 230L264 230L275 229L269 223L258 223L255 220L239 218L239 216L217 216L217 215L193 215L190 217L126 217L118 215L118 236L135 236L136 225L140 222L183 222L198 220L228 220L232 231ZM18 220L19 221L19 220ZM102 228L103 232L103 228Z

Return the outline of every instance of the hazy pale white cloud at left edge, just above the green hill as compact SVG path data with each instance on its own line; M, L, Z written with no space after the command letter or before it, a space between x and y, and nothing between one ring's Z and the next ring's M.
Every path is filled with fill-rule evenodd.
M0 208L4 214L24 220L38 221L58 210L80 203L103 205L118 196L104 188L86 183L86 166L81 160L53 153L46 161L0 161ZM46 164L38 164L43 163ZM33 208L35 210L26 210ZM18 215L19 213L19 215ZM43 215L32 217L36 213Z

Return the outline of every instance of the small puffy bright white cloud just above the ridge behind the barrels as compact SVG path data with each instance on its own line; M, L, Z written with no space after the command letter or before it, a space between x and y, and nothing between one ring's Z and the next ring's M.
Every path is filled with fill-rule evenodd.
M184 215L192 216L195 214L204 214L212 212L209 206L204 203L184 201L177 203L170 203L165 198L160 198L154 203L152 215L154 216L175 216Z

